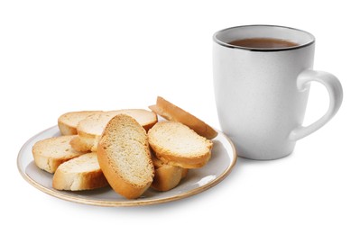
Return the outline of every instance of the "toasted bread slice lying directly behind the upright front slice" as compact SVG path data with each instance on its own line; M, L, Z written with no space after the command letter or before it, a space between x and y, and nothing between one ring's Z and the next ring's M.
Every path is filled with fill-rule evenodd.
M103 133L107 122L120 113L132 116L143 126L144 130L149 130L158 121L157 115L154 112L143 109L125 109L95 113L78 122L78 138L70 142L71 146L82 152L97 151L98 139Z

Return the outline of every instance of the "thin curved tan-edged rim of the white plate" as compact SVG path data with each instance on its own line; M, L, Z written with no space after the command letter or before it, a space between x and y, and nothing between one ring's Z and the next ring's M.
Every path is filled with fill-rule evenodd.
M231 173L231 171L233 170L236 161L237 161L237 155L236 155L236 149L234 146L234 143L231 141L231 139L229 139L226 134L224 134L222 131L217 130L218 134L221 134L222 137L224 137L227 142L230 144L230 147L232 148L232 152L233 155L232 157L230 156L230 158L232 159L230 161L230 164L226 167L226 170L223 171L221 173L221 175L217 176L213 181L211 181L211 183L199 186L195 189L189 190L185 193L180 193L180 194L176 194L170 197L165 197L165 198L153 198L153 199L149 199L149 200L143 200L143 201L137 201L137 200L129 200L129 201L99 201L99 200L91 200L91 199L87 199L87 198L80 198L80 197L76 197L76 196L72 196L72 195L68 195L68 194L64 194L64 193L58 193L56 191L51 190L48 187L43 186L42 184L39 184L38 182L36 182L34 179L32 179L29 175L27 175L25 173L25 171L23 170L23 166L21 166L21 162L20 162L20 158L23 155L23 151L24 148L26 146L28 146L30 144L30 142L35 139L36 137L42 135L42 133L48 131L48 130L52 130L53 128L58 127L58 125L54 125L48 129L42 130L39 133L33 135L30 139L26 140L25 143L23 143L22 148L20 148L19 153L17 155L16 158L16 164L17 164L17 169L19 171L19 173L23 176L23 179L28 182L29 184L32 184L33 187L39 189L40 191L42 191L43 193L47 193L53 197L57 197L60 198L62 200L65 201L69 201L69 202L77 202L77 203L82 203L82 204L89 204L89 205L97 205L97 206L106 206L106 207L130 207L130 206L144 206L144 205L154 205L154 204L160 204L160 203L165 203L165 202L172 202L172 201L177 201L183 198L187 198L189 196L192 195L196 195L198 193L202 193L206 190L208 190L209 188L219 184L221 181L223 181L227 175L229 175Z

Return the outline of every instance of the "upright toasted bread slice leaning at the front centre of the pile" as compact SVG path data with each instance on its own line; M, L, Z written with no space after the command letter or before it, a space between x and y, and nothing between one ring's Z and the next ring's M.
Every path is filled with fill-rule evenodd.
M128 199L139 197L152 184L154 168L146 131L129 115L116 115L107 123L97 159L111 187Z

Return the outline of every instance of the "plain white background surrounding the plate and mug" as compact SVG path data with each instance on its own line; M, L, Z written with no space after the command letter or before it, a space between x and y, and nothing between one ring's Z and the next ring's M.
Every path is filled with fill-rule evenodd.
M125 3L127 2L127 3ZM323 2L320 4L320 2ZM359 233L356 1L1 1L1 229L16 233ZM162 95L219 128L212 35L280 24L317 38L316 69L339 77L335 118L290 157L238 158L204 193L146 207L106 208L42 193L19 174L23 143L63 112L146 108ZM314 84L305 123L328 108Z

